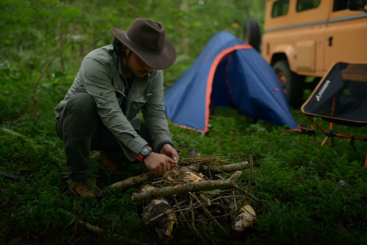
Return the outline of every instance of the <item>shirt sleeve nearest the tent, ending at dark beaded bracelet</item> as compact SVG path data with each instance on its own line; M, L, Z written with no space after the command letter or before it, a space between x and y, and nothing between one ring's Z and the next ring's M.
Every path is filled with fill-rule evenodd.
M173 145L173 137L164 114L163 71L157 72L149 93L148 101L142 107L142 114L153 141L153 150L157 152L163 142Z

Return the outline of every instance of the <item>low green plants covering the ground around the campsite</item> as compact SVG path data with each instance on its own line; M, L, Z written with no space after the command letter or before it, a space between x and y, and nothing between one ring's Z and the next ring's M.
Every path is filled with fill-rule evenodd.
M301 112L292 113L297 121L307 123ZM22 129L20 132L27 138L1 134L1 171L23 176L23 181L0 176L2 241L15 244L113 241L114 238L97 237L81 227L75 231L73 220L65 212L107 233L148 243L156 240L154 229L142 221L141 205L130 200L136 188L110 191L100 201L69 195L65 155L61 140L52 130L53 123L52 119L36 123L27 116L3 122L2 129ZM187 156L189 148L201 154L222 154L232 162L249 161L251 156L254 159L251 193L265 205L253 204L259 220L244 234L216 231L205 242L363 244L367 241L364 142L356 142L356 150L343 138L336 138L334 147L331 142L321 146L324 136L320 131L316 136L286 133L279 127L251 122L232 108L219 108L210 124L207 134L170 125L181 158ZM37 128L49 130L37 131ZM363 134L361 129L337 128ZM99 186L118 181L98 168L98 152L92 152L90 158ZM126 177L141 173L139 166L131 166L129 170ZM248 171L244 171L240 181L248 181ZM185 227L180 227L173 244L200 239L186 232Z

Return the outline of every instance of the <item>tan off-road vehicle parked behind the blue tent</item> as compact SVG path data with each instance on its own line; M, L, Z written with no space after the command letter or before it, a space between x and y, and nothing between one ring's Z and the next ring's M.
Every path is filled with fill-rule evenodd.
M264 34L249 19L244 39L273 66L298 108L303 89L312 89L335 62L367 61L366 8L366 0L267 0Z

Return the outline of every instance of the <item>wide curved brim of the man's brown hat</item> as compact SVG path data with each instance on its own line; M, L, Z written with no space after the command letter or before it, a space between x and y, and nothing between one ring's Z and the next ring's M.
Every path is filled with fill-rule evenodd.
M164 49L159 54L149 54L144 50L141 50L134 44L130 43L125 33L126 31L117 28L111 28L113 36L115 36L121 43L128 47L134 54L136 54L141 60L149 67L162 70L170 67L176 60L176 50L173 45L165 40Z

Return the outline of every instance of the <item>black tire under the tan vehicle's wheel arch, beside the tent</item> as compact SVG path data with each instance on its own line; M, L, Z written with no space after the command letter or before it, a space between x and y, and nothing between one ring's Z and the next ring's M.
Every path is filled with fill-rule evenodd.
M303 102L302 76L299 76L290 70L287 60L275 62L273 69L284 88L284 92L287 94L290 106L295 109L301 107Z

